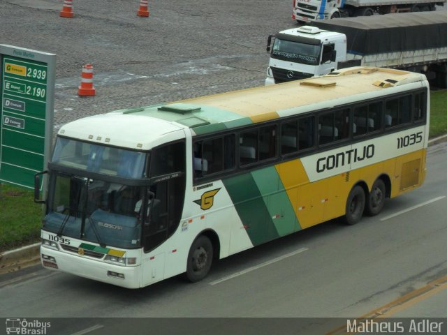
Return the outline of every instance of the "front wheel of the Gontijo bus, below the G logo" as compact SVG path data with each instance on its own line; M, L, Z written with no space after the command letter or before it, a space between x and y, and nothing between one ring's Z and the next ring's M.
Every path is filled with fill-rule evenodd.
M213 258L212 243L205 235L199 236L189 249L186 278L195 283L205 278Z

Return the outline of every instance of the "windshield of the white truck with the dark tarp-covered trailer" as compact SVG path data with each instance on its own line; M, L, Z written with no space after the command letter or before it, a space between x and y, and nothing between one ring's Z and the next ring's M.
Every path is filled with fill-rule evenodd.
M293 61L300 64L318 65L321 45L293 42L275 38L272 47L272 58Z

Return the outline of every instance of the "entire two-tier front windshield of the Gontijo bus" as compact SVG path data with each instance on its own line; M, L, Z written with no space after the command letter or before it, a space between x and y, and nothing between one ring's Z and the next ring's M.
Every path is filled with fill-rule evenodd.
M43 229L103 246L139 247L146 188L126 181L136 185L131 179L146 177L148 157L147 152L58 137Z

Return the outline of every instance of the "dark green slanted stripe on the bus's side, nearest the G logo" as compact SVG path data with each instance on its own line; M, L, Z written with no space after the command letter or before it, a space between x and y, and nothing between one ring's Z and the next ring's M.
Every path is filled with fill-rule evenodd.
M254 246L279 237L261 192L250 173L225 179L223 185Z

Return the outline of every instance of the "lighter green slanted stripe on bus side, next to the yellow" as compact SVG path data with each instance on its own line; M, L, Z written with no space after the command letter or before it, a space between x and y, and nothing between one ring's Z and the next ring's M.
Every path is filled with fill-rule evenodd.
M298 218L274 166L251 172L279 236L300 230Z

